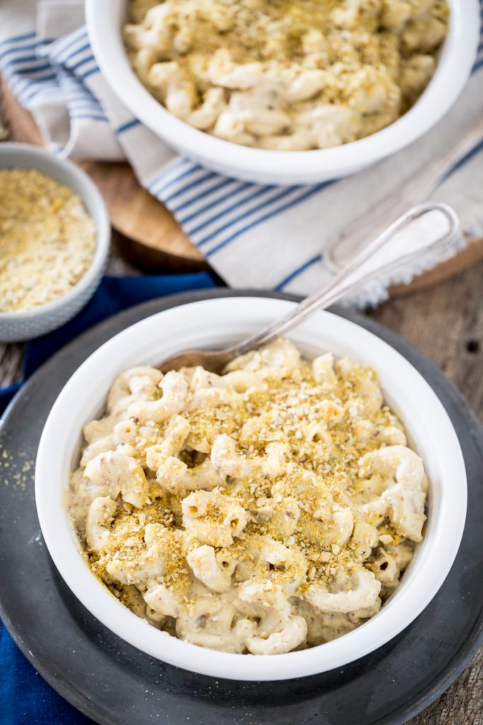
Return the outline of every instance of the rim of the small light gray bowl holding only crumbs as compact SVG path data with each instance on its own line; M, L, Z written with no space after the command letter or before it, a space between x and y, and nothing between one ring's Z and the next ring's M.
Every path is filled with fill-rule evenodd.
M20 154L24 157L31 157L32 165L28 167L4 167L4 159L15 159L17 152L20 152ZM93 283L96 276L98 275L99 270L103 267L107 255L109 254L109 244L111 239L111 222L109 220L109 214L107 212L106 203L104 202L101 192L98 190L96 184L92 181L89 175L85 173L83 169L72 163L72 161L51 154L51 152L47 151L46 149L42 149L40 146L21 144L17 143L17 141L0 144L0 170L4 170L7 168L32 168L40 171L40 169L38 169L37 165L35 164L35 160L38 158L48 159L51 165L64 169L71 179L75 178L77 181L80 182L82 186L88 188L89 194L91 194L91 196L93 197L93 204L96 206L98 214L98 220L94 220L93 216L88 212L87 209L85 209L88 216L93 220L94 224L96 225L96 249L94 250L93 258L91 264L88 267L88 270L75 284L75 286L73 286L72 289L63 294L62 297L59 297L59 299L54 299L52 302L47 302L46 305L38 305L38 307L33 307L32 310L21 310L20 312L0 312L0 323L7 321L12 322L13 320L34 320L35 318L41 318L43 315L54 312L55 310L58 310L64 305L68 304L72 301L72 299L75 299L79 294L82 294L85 289L88 289L91 283ZM51 178L54 178L54 176L52 176L50 173L46 173L45 171L41 171L41 173L46 176L51 176ZM58 180L54 178L54 181ZM73 191L70 183L59 183L62 183L64 186L68 186L69 188L71 188L71 191ZM82 193L80 193L78 191L75 191L74 193L80 197L85 208L85 192L83 191Z

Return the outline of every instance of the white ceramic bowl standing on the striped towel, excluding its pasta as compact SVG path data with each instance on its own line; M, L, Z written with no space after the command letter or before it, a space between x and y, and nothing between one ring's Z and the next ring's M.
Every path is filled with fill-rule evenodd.
M255 183L303 184L360 171L411 144L445 115L471 72L479 43L479 1L448 0L450 29L437 70L419 101L403 117L372 136L332 149L276 152L238 146L192 128L169 113L130 67L121 28L127 0L86 0L91 46L119 99L177 152L226 176Z

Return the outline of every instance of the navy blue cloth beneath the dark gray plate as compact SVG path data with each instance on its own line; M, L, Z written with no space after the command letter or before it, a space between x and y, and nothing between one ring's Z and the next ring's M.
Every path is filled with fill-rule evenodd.
M96 323L167 294L216 286L208 273L177 276L105 277L91 302L67 325L30 342L22 382L64 344ZM0 411L20 388L0 390ZM1 576L1 572L0 572ZM49 687L28 663L0 621L0 725L89 725L92 721Z

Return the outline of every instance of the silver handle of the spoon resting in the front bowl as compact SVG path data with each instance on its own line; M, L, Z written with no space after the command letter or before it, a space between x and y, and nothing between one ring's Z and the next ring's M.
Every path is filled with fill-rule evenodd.
M418 239L416 247L408 249L411 245L401 237L400 243L392 246L394 237L403 230L409 223L422 218L429 212L440 212L446 219L445 231L432 241ZM288 330L298 325L308 315L316 310L324 309L332 305L337 299L343 297L348 291L364 285L368 281L378 278L382 273L390 272L399 265L415 262L428 254L428 252L439 252L443 254L450 244L457 238L460 230L458 216L447 204L428 202L419 204L400 216L390 227L380 234L377 239L371 242L360 254L357 254L348 265L337 273L323 287L322 290L314 292L295 307L294 310L280 320L272 323L256 335L245 339L238 345L230 347L233 357L243 355L255 347L268 344ZM370 262L370 263L369 263ZM230 355L231 357L231 355Z

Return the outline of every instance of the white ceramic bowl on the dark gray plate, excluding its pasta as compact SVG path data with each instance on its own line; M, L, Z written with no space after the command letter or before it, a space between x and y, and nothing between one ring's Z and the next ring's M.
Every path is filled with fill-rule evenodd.
M374 618L319 647L286 655L235 655L167 637L125 608L81 558L62 508L62 492L77 465L80 431L103 410L121 370L156 364L186 347L234 342L288 312L293 302L258 297L209 299L160 312L106 342L70 378L52 407L38 448L35 499L43 537L72 592L119 637L187 670L240 680L276 680L340 667L395 637L427 606L445 580L463 534L466 473L445 409L419 373L392 347L354 323L319 312L290 339L308 356L332 350L376 368L387 402L400 413L431 481L424 541L395 594Z

